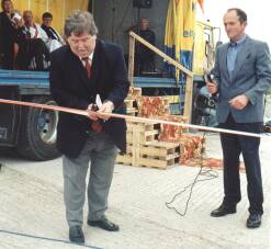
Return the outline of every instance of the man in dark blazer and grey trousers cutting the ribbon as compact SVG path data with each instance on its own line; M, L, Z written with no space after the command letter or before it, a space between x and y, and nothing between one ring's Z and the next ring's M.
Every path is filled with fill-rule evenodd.
M126 150L126 123L113 117L106 121L104 113L124 113L128 80L122 48L97 38L92 14L72 12L66 19L64 33L67 45L50 54L49 82L57 104L89 111L89 117L60 112L57 127L57 147L64 154L64 200L69 239L83 244L89 167L87 223L109 231L120 229L104 213L117 148Z

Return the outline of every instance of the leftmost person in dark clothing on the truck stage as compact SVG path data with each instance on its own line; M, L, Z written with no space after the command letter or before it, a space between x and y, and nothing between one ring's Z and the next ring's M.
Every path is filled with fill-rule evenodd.
M11 0L1 1L0 13L0 64L3 69L13 69L13 44L16 30L22 25L22 18L13 10Z

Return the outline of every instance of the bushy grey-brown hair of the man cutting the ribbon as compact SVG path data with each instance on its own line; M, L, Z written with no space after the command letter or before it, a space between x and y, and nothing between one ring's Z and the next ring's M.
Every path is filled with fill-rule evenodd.
M64 34L69 37L71 33L80 35L82 33L97 35L98 29L93 20L93 15L88 11L76 10L72 11L70 16L65 20Z

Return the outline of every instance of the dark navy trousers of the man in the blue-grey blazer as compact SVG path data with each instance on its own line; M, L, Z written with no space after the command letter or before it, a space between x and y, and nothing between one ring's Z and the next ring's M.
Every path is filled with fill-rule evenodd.
M262 123L236 123L232 114L229 114L226 123L219 124L219 127L250 133L262 132ZM235 205L241 200L239 156L242 154L247 174L249 213L262 214L263 193L259 158L260 138L221 134L221 143L224 159L224 202Z

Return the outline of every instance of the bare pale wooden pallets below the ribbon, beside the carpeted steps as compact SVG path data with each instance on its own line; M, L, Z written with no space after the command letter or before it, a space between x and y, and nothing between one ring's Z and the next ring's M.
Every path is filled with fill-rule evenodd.
M158 142L157 124L127 124L127 154L118 155L117 163L167 169L179 163L180 146Z

